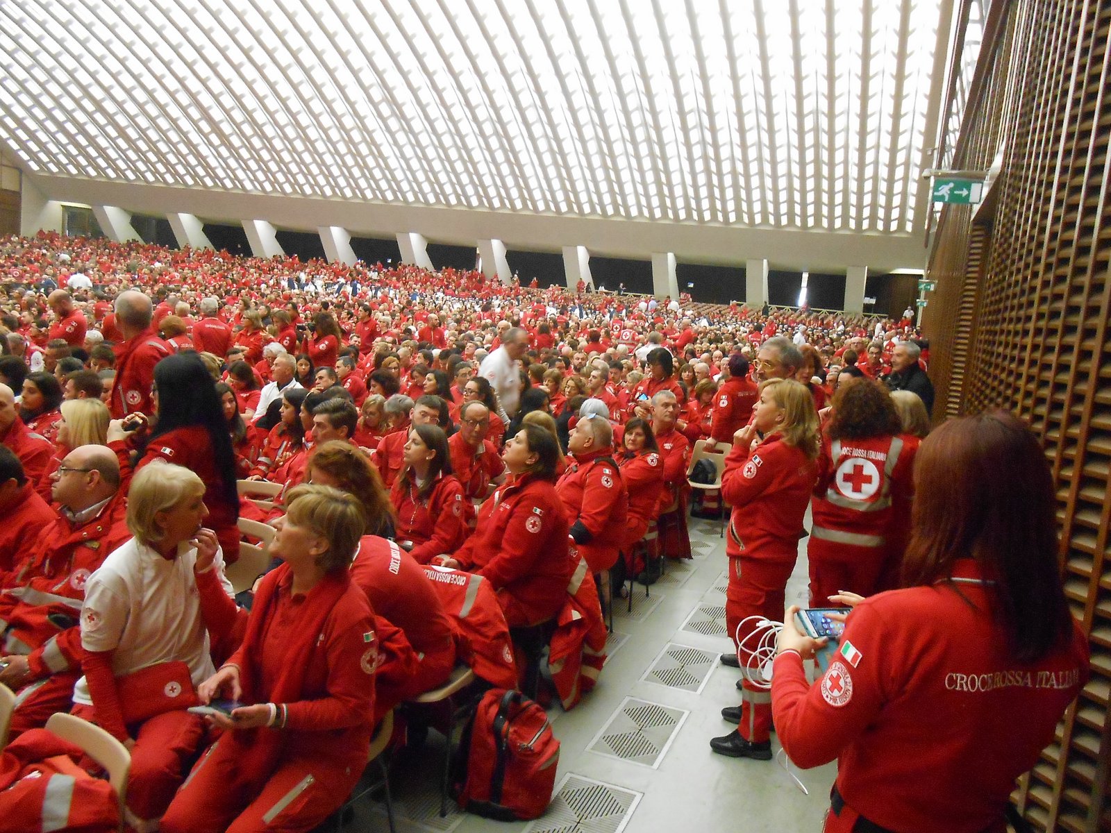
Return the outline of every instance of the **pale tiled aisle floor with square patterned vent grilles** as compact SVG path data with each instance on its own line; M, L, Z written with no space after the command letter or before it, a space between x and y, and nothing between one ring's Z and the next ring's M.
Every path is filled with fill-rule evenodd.
M695 558L669 566L633 611L617 606L615 633L598 688L571 712L552 706L562 744L556 797L531 823L507 824L460 813L449 803L440 819L434 732L419 761L394 770L399 833L685 833L687 831L817 831L829 805L833 764L808 772L791 767L809 790L773 761L733 760L710 751L709 740L732 726L722 706L739 702L735 669L717 656L724 635L724 542L718 524L692 521ZM788 603L805 603L805 542L788 584ZM778 744L772 737L772 747ZM386 831L371 804L357 810L346 831Z

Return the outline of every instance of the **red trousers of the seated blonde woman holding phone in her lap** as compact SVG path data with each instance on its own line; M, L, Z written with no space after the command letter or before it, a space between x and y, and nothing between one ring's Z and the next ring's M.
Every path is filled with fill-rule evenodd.
M259 756L232 733L197 762L162 816L162 833L309 831L343 804L362 775L363 767L336 764L319 751L300 756L287 749L253 760Z

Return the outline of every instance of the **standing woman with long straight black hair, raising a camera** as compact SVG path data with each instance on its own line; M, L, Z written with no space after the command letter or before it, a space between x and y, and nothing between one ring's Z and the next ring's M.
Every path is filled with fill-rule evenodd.
M239 558L236 452L216 383L197 353L168 355L154 365L154 414L149 432L132 426L133 420L141 419L136 414L113 420L109 426L109 444L120 456L121 476L130 476L132 460L133 471L166 460L194 472L204 482L209 524L223 559L234 563Z

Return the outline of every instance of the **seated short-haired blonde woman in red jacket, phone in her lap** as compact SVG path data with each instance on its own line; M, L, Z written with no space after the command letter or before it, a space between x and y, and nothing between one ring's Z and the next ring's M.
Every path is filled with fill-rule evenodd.
M373 731L374 612L348 565L364 528L350 494L289 491L243 644L198 688L226 730L162 817L166 833L308 831L359 782Z

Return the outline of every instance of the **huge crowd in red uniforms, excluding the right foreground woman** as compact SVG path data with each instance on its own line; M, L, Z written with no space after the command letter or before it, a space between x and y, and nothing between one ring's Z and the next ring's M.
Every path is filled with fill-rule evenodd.
M613 599L690 558L691 514L729 515L722 662L742 669L754 621L784 616L808 508L813 606L968 578L912 534L933 389L907 317L52 233L0 240L0 683L14 734L72 710L131 749L134 830L318 824L386 712L457 661L498 664L452 608L474 576L507 684L544 696L527 669L549 645L564 707L599 676ZM724 468L695 499L702 450ZM277 532L237 593L241 518ZM958 564L979 558L965 532ZM1013 579L992 566L975 580ZM1023 659L1067 666L1061 639ZM773 697L751 674L738 688L711 747L768 760ZM213 699L236 707L181 707ZM873 819L861 790L840 794Z

